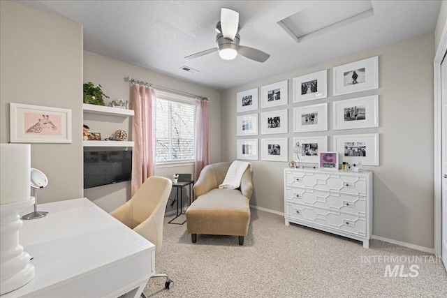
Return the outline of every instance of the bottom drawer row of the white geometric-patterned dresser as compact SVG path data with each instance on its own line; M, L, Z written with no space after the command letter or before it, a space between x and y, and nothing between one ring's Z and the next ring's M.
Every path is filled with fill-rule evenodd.
M366 234L366 220L363 216L341 214L337 211L318 207L307 207L305 204L286 202L286 218L297 223L309 223L325 229L343 231L356 236Z

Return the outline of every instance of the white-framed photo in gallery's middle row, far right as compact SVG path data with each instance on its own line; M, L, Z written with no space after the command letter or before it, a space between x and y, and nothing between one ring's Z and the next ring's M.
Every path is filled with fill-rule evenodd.
M379 127L379 96L365 96L332 103L334 129Z

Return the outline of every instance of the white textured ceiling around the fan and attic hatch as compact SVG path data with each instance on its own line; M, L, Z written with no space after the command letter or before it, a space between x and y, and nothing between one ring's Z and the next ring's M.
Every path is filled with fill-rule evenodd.
M295 42L277 22L318 6L341 13L349 1L16 1L64 16L84 27L84 49L223 90L346 54L434 31L441 1L371 1L374 15ZM271 55L261 64L214 52L222 7L240 13L240 45ZM335 8L334 8L335 7ZM315 9L314 9L315 10ZM317 20L316 20L317 22ZM189 66L200 73L179 68ZM137 78L138 79L138 78Z

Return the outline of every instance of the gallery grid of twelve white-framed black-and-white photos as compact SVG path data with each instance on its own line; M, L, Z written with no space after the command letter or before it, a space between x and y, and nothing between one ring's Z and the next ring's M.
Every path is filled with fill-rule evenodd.
M378 89L376 56L237 92L237 159L379 165Z

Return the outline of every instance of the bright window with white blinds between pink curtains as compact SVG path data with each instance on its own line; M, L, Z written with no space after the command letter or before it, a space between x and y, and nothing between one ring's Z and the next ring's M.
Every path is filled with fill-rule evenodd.
M194 161L196 106L185 100L156 98L156 163Z

